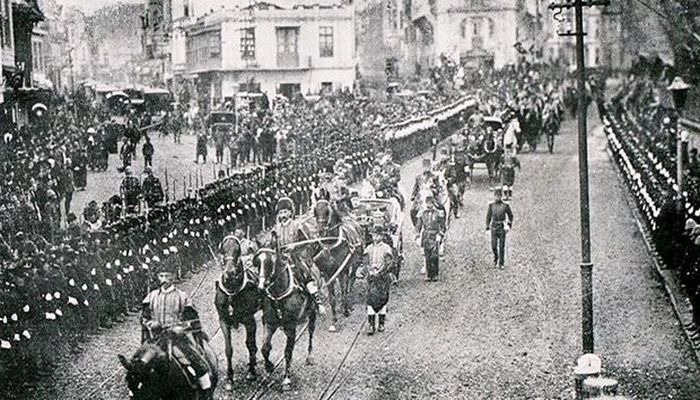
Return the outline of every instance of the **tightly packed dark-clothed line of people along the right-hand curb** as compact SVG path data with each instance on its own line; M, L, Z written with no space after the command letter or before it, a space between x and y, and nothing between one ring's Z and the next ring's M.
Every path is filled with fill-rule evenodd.
M677 182L678 114L664 102L663 76L626 78L603 112L614 159L667 268L679 272L700 324L700 170L697 150L681 138L683 183Z

